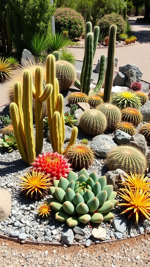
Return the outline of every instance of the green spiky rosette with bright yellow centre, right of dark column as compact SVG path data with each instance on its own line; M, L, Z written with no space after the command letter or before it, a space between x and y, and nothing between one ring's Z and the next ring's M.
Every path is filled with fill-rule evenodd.
M141 101L136 93L121 91L113 94L111 102L113 105L116 105L119 108L137 108L141 106Z

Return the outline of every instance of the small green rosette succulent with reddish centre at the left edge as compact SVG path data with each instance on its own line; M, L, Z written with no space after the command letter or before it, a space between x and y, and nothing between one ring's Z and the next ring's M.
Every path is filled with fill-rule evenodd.
M3 138L0 138L0 149L7 149L8 152L12 152L13 149L18 149L15 136L10 133L10 135L5 135Z

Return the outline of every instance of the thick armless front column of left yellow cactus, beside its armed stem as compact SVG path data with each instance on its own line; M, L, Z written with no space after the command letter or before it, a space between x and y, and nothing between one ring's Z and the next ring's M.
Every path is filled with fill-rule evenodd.
M32 76L28 70L23 74L23 112L27 155L29 163L32 163L36 158L36 153L32 114Z

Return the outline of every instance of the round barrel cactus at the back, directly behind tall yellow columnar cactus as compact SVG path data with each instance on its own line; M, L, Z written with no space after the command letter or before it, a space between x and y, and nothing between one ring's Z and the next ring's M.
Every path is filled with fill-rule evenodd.
M56 77L61 91L65 91L74 83L76 79L76 69L64 60L56 61Z

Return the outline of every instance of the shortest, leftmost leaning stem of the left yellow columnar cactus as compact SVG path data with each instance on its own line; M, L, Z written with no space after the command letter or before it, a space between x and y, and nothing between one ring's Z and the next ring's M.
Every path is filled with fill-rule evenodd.
M18 151L21 155L21 158L26 162L27 165L29 165L29 161L28 161L27 154L26 154L26 148L24 145L24 140L23 138L21 138L22 129L20 125L19 112L18 112L18 107L16 103L10 104L10 115L11 115L11 121L13 124L14 135L15 135L15 140L17 143Z

